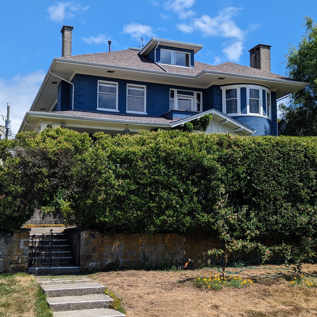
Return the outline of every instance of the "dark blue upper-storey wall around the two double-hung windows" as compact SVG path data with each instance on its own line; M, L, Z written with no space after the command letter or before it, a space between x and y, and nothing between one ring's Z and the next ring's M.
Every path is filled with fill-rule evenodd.
M75 85L76 110L100 112L97 109L98 80L118 82L118 110L126 114L126 84L146 86L146 112L149 116L161 116L170 110L170 88L202 92L203 107L206 103L206 90L199 88L173 86L143 81L130 81L92 75L76 74L72 80Z

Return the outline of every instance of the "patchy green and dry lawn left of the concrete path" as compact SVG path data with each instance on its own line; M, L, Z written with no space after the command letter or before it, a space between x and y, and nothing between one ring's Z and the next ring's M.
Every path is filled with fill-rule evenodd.
M0 274L0 317L52 317L46 295L33 275Z

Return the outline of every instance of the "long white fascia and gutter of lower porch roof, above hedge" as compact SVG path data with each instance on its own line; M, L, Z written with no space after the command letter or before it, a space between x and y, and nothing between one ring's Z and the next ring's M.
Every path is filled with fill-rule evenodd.
M78 120L78 121L96 121L96 122L113 122L113 123L123 123L123 124L135 124L139 126L158 126L158 127L170 127L169 123L156 123L156 122L147 122L147 121L134 121L134 120L113 120L113 119L102 119L102 118L88 118L80 116L71 116L65 114L56 114L54 112L27 112L26 115L30 117L36 117L41 119L69 119L69 120ZM24 121L23 121L24 122Z

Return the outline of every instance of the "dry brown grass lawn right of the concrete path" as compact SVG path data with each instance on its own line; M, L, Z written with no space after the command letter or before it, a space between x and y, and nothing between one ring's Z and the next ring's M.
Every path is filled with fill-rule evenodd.
M122 305L126 308L127 317L317 316L317 288L292 287L289 281L294 275L291 271L283 271L283 276L278 278L252 278L254 283L243 289L202 291L195 288L192 279L210 275L210 271L218 273L214 269L182 272L130 270L102 272L90 277L123 297ZM316 275L317 265L304 265L303 271ZM273 275L275 272L277 270L254 269L246 273ZM239 276L245 275L241 273ZM272 285L264 285L262 281Z

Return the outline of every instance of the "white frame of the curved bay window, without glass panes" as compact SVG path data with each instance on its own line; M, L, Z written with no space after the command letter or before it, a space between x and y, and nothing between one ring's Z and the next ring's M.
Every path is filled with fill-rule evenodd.
M247 90L247 113L241 113L241 94L240 94L240 88L245 87ZM237 89L237 113L226 113L226 89ZM259 101L259 113L250 113L250 88L252 89L258 89L260 90L260 101ZM222 86L220 87L222 90L222 111L223 113L227 114L228 116L258 116L258 117L263 117L266 119L272 120L271 112L272 112L272 97L271 97L271 90L266 87L258 86L258 85L230 85L230 86ZM265 91L265 102L266 102L266 107L268 107L267 103L267 93L270 95L270 113L268 115L268 112L266 115L263 115L263 92Z

